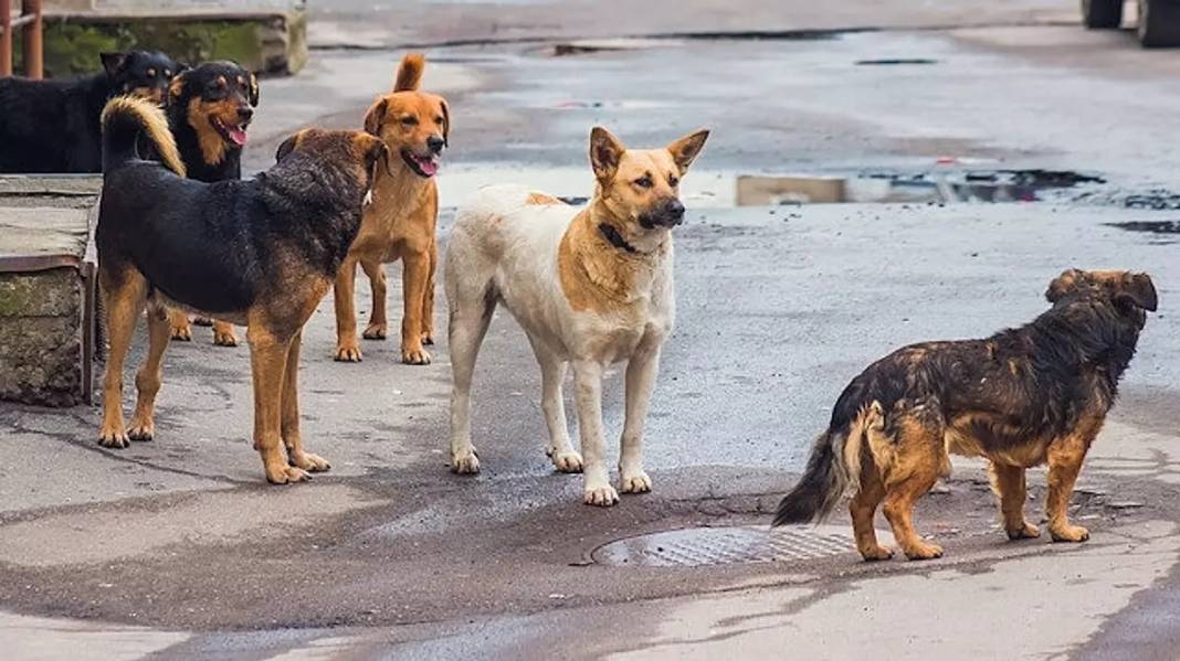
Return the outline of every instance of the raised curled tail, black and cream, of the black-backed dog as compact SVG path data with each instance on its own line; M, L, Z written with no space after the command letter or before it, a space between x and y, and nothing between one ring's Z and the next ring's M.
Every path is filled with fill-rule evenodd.
M164 111L135 97L116 97L103 108L103 172L139 159L139 135L145 135L164 167L184 177L184 161Z

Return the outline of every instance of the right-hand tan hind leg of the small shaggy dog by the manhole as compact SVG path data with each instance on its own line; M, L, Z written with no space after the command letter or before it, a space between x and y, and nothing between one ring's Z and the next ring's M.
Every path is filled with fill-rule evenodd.
M885 480L885 518L893 537L910 560L943 555L942 547L922 541L913 529L913 504L938 481L945 469L943 429L933 421L909 416L896 424L897 455Z

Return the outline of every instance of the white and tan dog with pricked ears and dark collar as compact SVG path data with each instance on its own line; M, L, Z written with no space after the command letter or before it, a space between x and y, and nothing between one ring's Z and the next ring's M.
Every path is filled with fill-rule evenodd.
M583 470L584 456L585 502L618 502L603 462L602 378L607 365L627 361L620 488L651 490L643 470L643 421L676 311L670 230L684 218L680 178L708 135L699 131L662 150L627 150L595 127L590 164L597 186L585 209L526 189L493 186L459 211L446 256L453 471L479 471L471 444L471 378L492 312L503 303L540 364L548 454L557 470ZM581 456L570 443L562 403L568 363L573 364Z

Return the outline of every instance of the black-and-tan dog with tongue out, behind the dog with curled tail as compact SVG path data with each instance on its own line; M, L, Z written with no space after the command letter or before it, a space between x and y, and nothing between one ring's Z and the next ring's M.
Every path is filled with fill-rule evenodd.
M245 130L257 105L257 77L235 62L205 62L172 79L168 124L190 179L211 184L242 178ZM172 339L192 339L188 315L173 311L171 323ZM214 344L237 345L232 324L203 317L197 323L212 323Z

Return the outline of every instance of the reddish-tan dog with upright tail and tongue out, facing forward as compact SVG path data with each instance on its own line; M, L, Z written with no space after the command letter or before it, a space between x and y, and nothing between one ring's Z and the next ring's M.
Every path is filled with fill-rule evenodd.
M394 154L393 172L379 172L373 204L365 212L361 231L335 283L336 359L358 362L356 264L373 287L373 313L366 339L385 339L388 332L384 264L401 259L405 311L401 318L401 361L425 365L431 355L422 348L434 343L434 271L438 243L438 189L434 173L447 145L451 115L441 97L419 92L426 60L409 54L401 60L393 92L379 98L365 115L365 130L381 138Z

